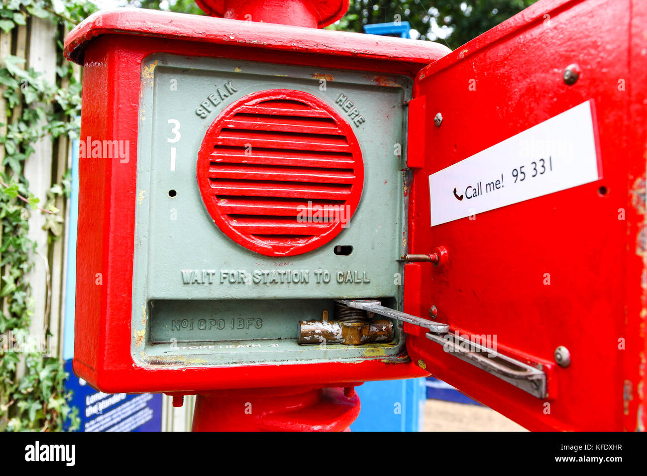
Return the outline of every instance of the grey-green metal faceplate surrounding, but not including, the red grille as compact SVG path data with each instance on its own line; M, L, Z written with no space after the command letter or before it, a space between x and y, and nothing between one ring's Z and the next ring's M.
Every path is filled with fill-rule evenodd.
M133 271L135 361L236 365L399 354L400 332L394 343L373 345L372 350L300 346L294 337L297 321L320 319L323 309L332 316L333 299L373 297L399 305L404 166L396 153L404 150L403 105L411 96L411 84L406 76L170 54L154 54L142 63ZM196 109L218 88L228 95L201 118ZM207 128L228 104L265 89L311 93L345 117L335 102L343 94L366 119L359 126L349 120L364 159L360 204L332 242L303 255L274 258L236 244L214 224L197 186L197 154ZM353 253L334 255L335 245L351 245ZM263 277L267 271L268 282L250 279L254 271ZM302 278L298 284L281 282L282 271L298 272ZM338 273L343 282L338 282ZM270 284L274 276L279 282Z

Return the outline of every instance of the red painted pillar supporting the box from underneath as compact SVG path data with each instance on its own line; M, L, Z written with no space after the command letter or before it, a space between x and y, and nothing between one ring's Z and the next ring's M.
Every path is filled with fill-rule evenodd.
M198 394L193 431L349 431L359 413L353 387L220 391Z

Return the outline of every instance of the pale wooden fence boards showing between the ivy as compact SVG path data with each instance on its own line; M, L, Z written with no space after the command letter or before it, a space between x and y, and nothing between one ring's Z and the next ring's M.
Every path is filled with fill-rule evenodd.
M56 67L65 61L57 53L57 41L65 36L63 28L58 27L49 19L29 17L27 25L16 25L10 33L0 35L0 60L4 63L9 54L25 58L21 67L33 68L41 73L41 78L58 87L67 87L65 81L57 78ZM74 74L80 77L80 67ZM3 90L4 93L4 90ZM6 100L0 100L0 118L6 117ZM16 106L12 116L0 122L9 124L16 122L21 116L21 106ZM0 135L6 135L6 125L0 129ZM29 190L40 199L47 201L47 191L52 184L61 183L63 174L71 164L71 141L61 136L55 141L43 137L33 144L34 153L25 161L24 175L28 181ZM0 162L5 158L5 149L0 145ZM2 166L3 171L5 167ZM63 216L67 216L67 199L58 198L56 207ZM43 229L46 216L39 210L30 210L28 223L28 238L36 243L36 251L31 256L34 267L25 279L30 283L34 300L31 317L30 334L42 335L46 330L54 335L50 352L60 353L62 345L63 316L65 315L65 244L67 242L67 223L60 240L49 240L49 232ZM50 243L50 241L52 241ZM5 273L6 270L3 270ZM5 313L8 310L9 297L2 302ZM19 376L24 367L19 369Z

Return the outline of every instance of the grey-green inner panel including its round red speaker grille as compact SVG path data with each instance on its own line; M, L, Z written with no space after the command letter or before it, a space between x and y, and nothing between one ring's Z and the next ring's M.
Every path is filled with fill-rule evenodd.
M300 320L332 311L338 296L397 295L399 239L391 231L404 221L401 161L382 151L404 141L404 110L393 106L408 95L409 78L394 75L394 85L382 87L366 73L318 67L334 76L322 83L303 66L170 54L147 56L141 70L135 361L208 367L402 354L400 333L392 345L380 348L380 356L367 356L364 349L343 345L328 346L325 354L304 348L296 343L294 329ZM270 96L274 108L261 111L267 102L259 106L257 100ZM356 125L356 110L377 119L370 128L359 120ZM291 114L300 115L298 124ZM353 154L340 150L338 136L313 133L321 131L320 119L328 119L331 128L335 120L347 121L336 129L346 131ZM306 131L276 130L295 126ZM371 157L371 163L362 164L360 155ZM336 161L344 164L333 170ZM329 170L340 172L344 181L355 178L324 182L331 178ZM362 203L371 205L355 209L360 188ZM314 199L302 193L313 189L329 195ZM340 192L347 198L331 201ZM292 208L285 207L288 201ZM315 206L320 203L333 204L340 213L323 220ZM298 234L313 227L322 233ZM353 249L349 255L336 255L336 244L325 244L327 234L336 232L336 244ZM308 247L311 251L300 253Z

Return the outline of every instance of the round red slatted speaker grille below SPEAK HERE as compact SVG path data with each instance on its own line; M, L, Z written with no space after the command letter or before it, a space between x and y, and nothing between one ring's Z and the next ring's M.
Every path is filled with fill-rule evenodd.
M229 238L267 256L300 255L347 225L364 184L351 126L309 93L272 89L230 104L204 135L197 181Z

